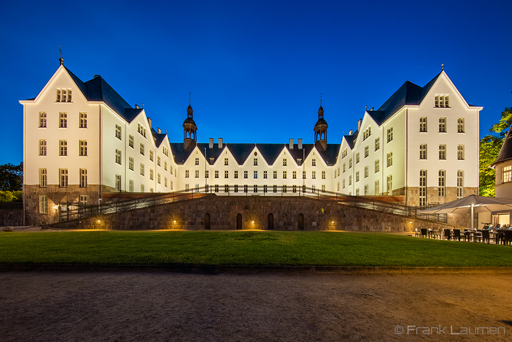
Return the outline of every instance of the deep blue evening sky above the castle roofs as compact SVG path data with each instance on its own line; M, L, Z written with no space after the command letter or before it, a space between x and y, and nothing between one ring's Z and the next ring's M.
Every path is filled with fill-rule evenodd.
M100 74L183 139L191 92L198 141L312 143L319 94L328 142L357 129L404 82L441 70L483 106L480 135L512 106L510 1L3 2L0 164L23 159L23 107L64 64Z

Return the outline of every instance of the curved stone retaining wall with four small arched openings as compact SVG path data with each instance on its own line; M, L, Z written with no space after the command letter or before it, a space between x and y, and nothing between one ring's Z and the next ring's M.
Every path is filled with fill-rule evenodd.
M269 214L272 214L275 230L298 230L300 214L304 217L304 230L401 232L414 231L415 228L453 228L452 225L307 197L216 195L105 214L54 226L79 229L202 230L205 229L206 214L210 217L210 229L237 229L238 214L241 215L241 229L268 229Z

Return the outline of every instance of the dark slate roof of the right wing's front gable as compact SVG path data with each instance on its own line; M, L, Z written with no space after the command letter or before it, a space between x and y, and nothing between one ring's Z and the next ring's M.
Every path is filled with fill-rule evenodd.
M377 111L384 112L381 118L381 123L385 122L403 106L418 106L441 74L442 71L423 88L410 81L406 81L406 83L398 88L398 90L395 91L395 93L391 95L391 97L388 98L388 100L380 106L379 109L377 109Z

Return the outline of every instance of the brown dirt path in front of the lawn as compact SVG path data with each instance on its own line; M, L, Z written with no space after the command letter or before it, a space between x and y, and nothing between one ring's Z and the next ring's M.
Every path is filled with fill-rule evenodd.
M4 342L505 341L512 335L512 275L17 271L0 273L0 284ZM424 336L423 329L407 335L407 326L439 325L447 335ZM406 331L397 335L397 326ZM461 327L504 329L450 335Z

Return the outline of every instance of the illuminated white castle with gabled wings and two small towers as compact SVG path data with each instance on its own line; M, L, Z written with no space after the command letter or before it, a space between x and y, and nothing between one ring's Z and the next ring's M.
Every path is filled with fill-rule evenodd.
M187 108L182 142L152 127L101 76L82 82L62 64L24 115L27 223L51 222L62 199L98 204L112 192L225 186L239 192L402 195L413 206L478 193L479 112L444 71L424 87L404 83L368 110L340 144L327 143L322 106L314 144L197 143ZM339 128L336 128L339 129ZM257 187L255 187L257 186Z

